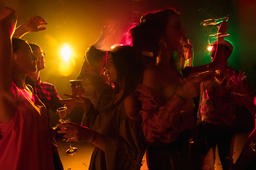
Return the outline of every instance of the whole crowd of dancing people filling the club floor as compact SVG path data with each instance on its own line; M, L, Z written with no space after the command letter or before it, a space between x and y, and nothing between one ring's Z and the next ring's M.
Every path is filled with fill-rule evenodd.
M40 79L46 54L39 45L21 39L46 30L46 21L33 16L16 28L16 11L3 8L1 169L64 169L50 127L50 110L63 106L68 113L73 106L84 108L81 125L60 123L58 133L65 133L69 142L95 146L90 170L139 170L144 154L149 170L201 170L216 145L224 170L250 169L247 164L256 157L256 130L233 162L235 105L245 104L254 118L256 105L245 74L228 66L233 52L232 43L224 40L229 16L219 24L217 40L211 44L212 62L193 67L193 47L179 14L174 8L145 13L129 29L132 44L109 51L101 47L114 33L107 23L86 51L78 75L82 86L72 86L72 94L65 94L69 99L62 100L53 84ZM193 99L198 96L195 115Z

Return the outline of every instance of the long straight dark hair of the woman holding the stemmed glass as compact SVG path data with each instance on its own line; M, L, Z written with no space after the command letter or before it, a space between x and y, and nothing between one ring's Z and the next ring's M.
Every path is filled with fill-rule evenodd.
M142 76L143 65L134 47L129 45L115 47L114 50L107 52L107 55L109 54L112 55L117 69L116 88L124 91L119 102L114 104L117 106L136 89L139 78Z

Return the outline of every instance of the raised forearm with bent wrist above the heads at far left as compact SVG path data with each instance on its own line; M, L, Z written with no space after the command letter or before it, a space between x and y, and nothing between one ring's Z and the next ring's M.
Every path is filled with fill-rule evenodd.
M31 18L28 18L26 23L23 23L21 26L16 28L14 37L21 38L23 35L26 35L26 33L29 32L39 32L41 30L46 30L45 27L41 26L47 25L48 23L46 23L46 21L41 16L32 16Z

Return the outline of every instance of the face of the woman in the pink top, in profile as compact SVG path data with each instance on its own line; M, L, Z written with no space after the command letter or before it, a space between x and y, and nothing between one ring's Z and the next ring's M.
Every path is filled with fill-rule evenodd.
M18 45L18 50L14 53L14 64L18 74L30 74L36 72L36 61L38 58L33 55L31 47L26 42Z

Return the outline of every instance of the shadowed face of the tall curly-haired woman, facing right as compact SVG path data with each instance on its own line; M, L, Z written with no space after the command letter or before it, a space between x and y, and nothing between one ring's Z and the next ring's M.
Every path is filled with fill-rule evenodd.
M169 17L166 26L165 42L167 49L171 51L181 50L183 48L183 40L186 40L186 30L183 29L182 21L178 15L173 14Z

